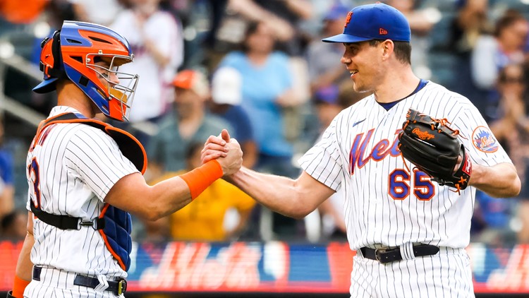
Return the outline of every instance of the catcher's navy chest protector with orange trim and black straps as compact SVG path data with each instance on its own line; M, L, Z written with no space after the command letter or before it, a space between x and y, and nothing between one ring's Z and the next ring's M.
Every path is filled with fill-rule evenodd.
M37 136L35 136L30 150L35 148L35 144L39 142L42 131L47 126L58 123L82 123L101 129L116 141L121 153L133 163L136 169L142 174L145 173L145 169L147 168L147 155L145 154L143 146L134 136L103 121L88 119L82 114L64 113L42 121L39 124ZM40 205L38 208L35 207L32 200L30 201L30 207L32 213L39 220L46 222L48 225L58 227L61 230L80 230L81 227L92 227L94 230L99 231L105 246L107 246L112 256L116 258L119 266L123 270L128 270L130 267L130 251L132 249L130 232L132 231L132 220L128 212L105 203L98 217L86 221L81 217L47 213L40 209Z

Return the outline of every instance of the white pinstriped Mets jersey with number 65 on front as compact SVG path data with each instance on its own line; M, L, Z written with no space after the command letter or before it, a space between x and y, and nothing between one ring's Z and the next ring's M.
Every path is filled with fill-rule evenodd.
M337 190L343 188L343 213L351 249L421 242L464 248L470 241L475 188L461 195L404 165L397 135L409 108L446 118L473 163L511 162L478 109L457 93L428 82L417 93L386 110L370 95L344 109L322 141L300 159L305 172ZM377 244L377 245L375 245Z

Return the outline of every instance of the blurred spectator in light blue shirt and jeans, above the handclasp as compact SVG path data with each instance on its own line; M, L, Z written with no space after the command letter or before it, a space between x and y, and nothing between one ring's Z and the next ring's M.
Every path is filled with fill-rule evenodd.
M259 147L255 169L296 177L291 164L293 146L285 137L282 108L300 103L293 91L288 56L274 51L274 35L265 23L250 23L243 51L230 52L220 66L231 66L243 77L241 106L250 116Z

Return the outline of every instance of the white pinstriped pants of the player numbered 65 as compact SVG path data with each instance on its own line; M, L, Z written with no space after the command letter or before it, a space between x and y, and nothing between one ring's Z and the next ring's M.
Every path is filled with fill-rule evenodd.
M433 256L387 264L357 254L349 292L351 298L475 297L468 254L447 247Z

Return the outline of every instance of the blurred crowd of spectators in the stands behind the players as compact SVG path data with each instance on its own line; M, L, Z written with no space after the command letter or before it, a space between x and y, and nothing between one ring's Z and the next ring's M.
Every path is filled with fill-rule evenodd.
M351 8L371 2L2 0L0 57L14 54L38 69L40 40L63 20L107 25L130 42L135 60L122 67L138 73L140 83L129 122L102 120L145 146L147 181L196 167L205 140L222 128L241 143L245 167L297 177L297 158L341 109L367 96L351 87L340 62L343 46L320 40L342 32ZM473 241L529 243L528 1L383 2L410 22L415 73L468 97L523 181L515 199L478 191ZM3 67L0 78L0 90L25 107L47 115L55 105L53 94L31 92L35 78ZM35 127L12 111L1 115L0 234L19 239L25 234L25 148ZM339 192L305 220L293 220L219 180L169 217L136 219L133 236L154 242L345 241L342 206Z

